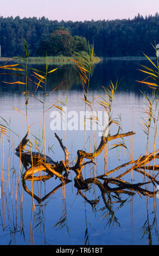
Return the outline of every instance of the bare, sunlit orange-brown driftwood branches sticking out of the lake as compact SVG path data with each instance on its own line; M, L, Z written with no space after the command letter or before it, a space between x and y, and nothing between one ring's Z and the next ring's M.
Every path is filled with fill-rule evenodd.
M112 124L112 121L109 123L109 126ZM120 129L119 129L120 130ZM26 169L26 172L22 176L23 180L23 187L26 192L28 192L31 196L33 196L37 202L41 203L44 199L46 199L50 194L54 193L58 188L60 188L63 184L67 184L71 182L71 180L68 179L69 173L71 170L75 173L74 178L74 186L78 188L78 193L94 207L94 204L96 205L97 202L88 200L87 197L81 192L81 190L87 189L90 184L96 184L100 191L101 196L106 204L106 198L105 193L124 193L128 194L129 196L133 195L135 191L141 195L148 195L149 197L153 197L156 193L155 191L149 191L145 188L145 185L152 183L154 186L156 184L159 184L159 181L156 179L157 175L150 175L147 170L158 170L158 165L152 165L149 169L147 169L147 164L155 159L159 158L159 149L155 151L154 153L151 153L149 155L140 156L137 160L129 161L127 163L122 164L121 166L116 167L115 169L110 170L107 173L104 173L103 175L99 175L93 178L85 179L82 176L82 169L86 166L86 164L96 164L94 162L94 159L103 151L105 148L107 142L117 139L117 138L123 138L127 136L135 135L135 132L127 132L127 133L116 133L116 135L113 136L107 136L105 137L105 134L101 137L101 141L99 144L99 147L97 150L95 150L93 153L87 153L83 150L77 151L77 161L75 162L74 166L71 166L69 163L69 151L66 149L66 147L62 143L62 139L59 138L59 136L55 133L55 137L58 139L60 146L63 150L63 153L65 155L65 159L62 159L60 162L53 161L49 156L43 155L39 152L30 152L30 151L24 151L27 143L28 143L28 132L26 136L22 139L20 145L16 148L16 155L20 157L22 164L24 168ZM86 161L88 159L89 161ZM85 160L85 161L84 161ZM116 178L110 177L108 178L108 175L115 173L117 170L125 168L126 166L131 166L128 168L125 172L121 173L120 175L116 176ZM136 172L139 172L143 175L144 182L136 183L136 184L130 184L130 182L124 181L123 178L126 174L130 173L132 170L135 170ZM44 175L35 176L34 174L44 171ZM154 173L154 172L153 172ZM46 181L50 178L55 176L55 178L59 178L62 183L58 187L54 188L53 191L48 193L44 198L38 198L36 195L34 195L33 191L30 192L26 186L26 180L32 180L32 181ZM145 181L145 177L148 178L148 181ZM101 182L103 180L103 183ZM110 187L110 184L115 185L115 187ZM142 188L144 186L144 188ZM107 204L106 204L107 205Z

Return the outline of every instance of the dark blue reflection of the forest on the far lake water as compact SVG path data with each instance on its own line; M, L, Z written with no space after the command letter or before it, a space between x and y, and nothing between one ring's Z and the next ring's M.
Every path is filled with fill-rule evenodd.
M57 66L55 66L56 68ZM44 70L45 65L34 65L33 68ZM53 66L54 68L54 66ZM115 71L116 70L116 71ZM16 77L9 75L1 75L1 81L15 82ZM108 61L104 63L92 65L92 75L91 75L91 90L102 89L101 85L107 87L109 86L110 80L114 81L117 77L123 77L121 85L118 87L118 92L136 92L140 94L139 90L143 92L150 92L148 87L138 86L136 80L142 80L143 76L139 71L136 70L136 64L131 61ZM34 80L33 77L30 77ZM81 81L77 71L75 71L74 66L71 64L62 65L56 70L55 74L50 74L47 78L47 91L50 92L56 88L61 82L65 81L62 86L59 86L56 90L60 89L78 89L81 90ZM35 92L35 85L28 80L28 88L30 92ZM6 86L6 84L1 82L0 93L4 92L10 93L22 93L25 91L23 86ZM42 88L39 87L39 92Z

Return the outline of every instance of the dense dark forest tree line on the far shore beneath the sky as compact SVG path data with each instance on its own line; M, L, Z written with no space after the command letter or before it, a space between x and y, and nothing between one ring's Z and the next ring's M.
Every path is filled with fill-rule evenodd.
M55 31L59 28L67 31L65 43L71 44L68 44L67 47L63 46L65 51L62 48L56 51L60 41L56 40L55 45L54 39L57 36ZM154 44L154 40L156 40L156 44L159 43L159 15L156 13L155 16L143 17L138 14L131 20L84 22L63 20L59 22L48 20L45 17L20 19L19 16L15 18L0 16L0 44L3 57L21 56L24 51L23 38L27 41L30 56L43 54L42 46L46 47L45 50L49 54L69 55L68 48L75 49L77 47L79 50L78 47L82 40L86 46L85 38L90 44L94 41L96 56L142 56L142 52L151 56L154 51L150 43ZM77 44L75 40L77 40ZM84 48L81 47L80 50L84 50Z

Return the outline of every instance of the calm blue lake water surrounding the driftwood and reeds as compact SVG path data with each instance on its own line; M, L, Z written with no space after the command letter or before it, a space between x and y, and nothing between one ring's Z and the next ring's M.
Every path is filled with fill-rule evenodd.
M105 152L97 157L97 166L87 164L83 175L86 178L93 175L101 175L120 164L130 161L133 147L133 159L138 159L145 154L147 136L143 132L142 117L147 117L143 113L147 100L140 92L144 92L151 97L152 90L146 86L141 86L136 80L145 78L137 69L139 63L146 61L107 61L93 65L88 100L93 97L102 100L105 97L103 87L109 87L110 80L113 83L117 78L122 78L117 89L112 105L112 117L122 120L122 132L134 131L136 135L126 137L127 149L118 147L107 153L107 164L105 164ZM43 70L43 65L33 65L35 69ZM50 66L53 69L54 66ZM17 78L8 75L1 75L0 81L13 82ZM18 78L18 80L20 80ZM62 81L66 81L58 89L54 90ZM43 101L43 90L28 85L28 91L37 99ZM52 92L53 91L53 92ZM9 141L4 136L1 137L1 199L0 199L0 244L1 245L158 245L158 206L157 197L145 197L139 193L124 194L107 193L107 206L97 185L92 184L90 190L82 191L88 200L97 200L97 204L92 208L88 200L81 194L77 194L74 187L73 171L69 174L72 180L65 187L59 187L59 179L51 178L46 182L33 182L34 193L43 198L50 193L46 199L39 204L23 189L21 183L21 173L19 174L20 162L14 154L15 148L19 144L19 136L26 135L26 98L23 94L25 86L16 86L0 83L0 116L10 123ZM54 161L64 158L59 142L55 138L54 131L50 129L50 122L53 118L50 113L58 110L55 107L49 109L57 101L66 103L67 111L84 111L85 103L82 101L82 86L72 65L63 65L56 72L48 76L45 110L45 132L46 132L46 154ZM29 96L28 116L31 133L31 140L35 145L35 137L42 140L43 127L43 104L33 95ZM58 103L59 106L60 102ZM19 111L17 111L17 108ZM99 104L94 103L94 109L100 110ZM21 111L21 112L20 112ZM0 123L5 124L1 119ZM111 135L118 130L116 125L110 128ZM58 136L66 140L67 149L70 151L70 161L77 157L78 149L84 148L84 131L56 131ZM94 139L95 138L95 139ZM98 133L93 137L92 131L87 131L87 151L93 151L94 145L98 146L100 137ZM154 131L151 131L150 152L153 148ZM117 143L117 142L116 142ZM113 144L113 143L111 143ZM158 149L158 137L156 149ZM4 146L4 147L3 147ZM4 149L3 149L4 148ZM52 150L51 150L51 149ZM29 149L29 147L28 147ZM124 172L125 168L119 169L110 176L116 177ZM23 172L21 164L21 172ZM131 180L132 179L132 180ZM143 182L143 176L137 172L130 173L124 177L128 182ZM18 182L19 181L19 182ZM26 182L31 191L31 181ZM153 191L152 185L149 189ZM156 188L155 188L156 190ZM110 208L114 212L113 218Z

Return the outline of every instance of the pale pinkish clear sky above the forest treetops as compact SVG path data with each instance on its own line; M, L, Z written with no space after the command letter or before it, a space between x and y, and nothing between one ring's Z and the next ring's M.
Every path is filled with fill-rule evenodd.
M158 0L0 0L3 17L42 17L84 21L133 19L138 13L159 13Z

